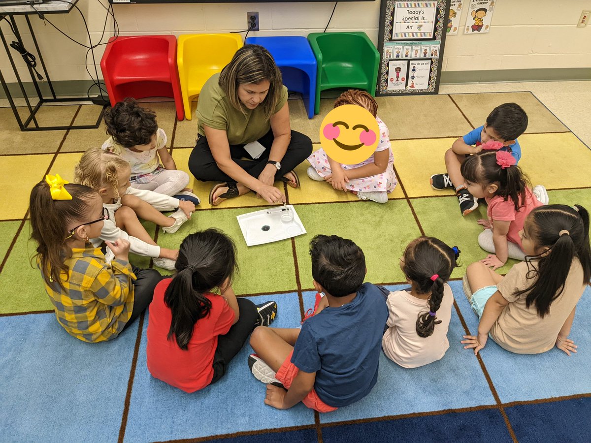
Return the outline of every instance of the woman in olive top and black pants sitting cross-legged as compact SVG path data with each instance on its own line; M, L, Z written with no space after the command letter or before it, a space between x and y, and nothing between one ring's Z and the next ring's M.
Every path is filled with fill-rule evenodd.
M269 203L281 203L285 195L275 180L300 185L294 168L311 154L312 142L291 131L287 87L264 47L244 45L207 80L196 116L199 136L189 170L197 180L222 182L209 193L213 206L251 190ZM251 148L251 142L258 144Z

